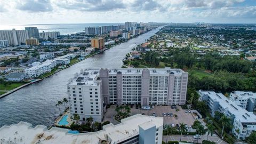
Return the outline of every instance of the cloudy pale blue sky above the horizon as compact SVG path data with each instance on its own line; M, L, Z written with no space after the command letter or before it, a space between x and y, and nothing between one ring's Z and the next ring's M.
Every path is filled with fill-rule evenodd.
M256 23L256 0L0 0L0 25Z

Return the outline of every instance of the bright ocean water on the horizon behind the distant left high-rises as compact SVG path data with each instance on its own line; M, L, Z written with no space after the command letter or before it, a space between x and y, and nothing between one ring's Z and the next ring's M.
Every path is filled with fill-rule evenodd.
M39 32L60 31L61 35L83 32L85 27L99 27L122 25L124 23L70 23L70 24L34 24L34 25L0 25L0 30L25 29L25 27L37 27Z

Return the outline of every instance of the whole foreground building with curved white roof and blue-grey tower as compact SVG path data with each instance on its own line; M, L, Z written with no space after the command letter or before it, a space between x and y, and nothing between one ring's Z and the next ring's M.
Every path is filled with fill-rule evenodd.
M20 122L0 128L2 143L84 143L84 144L161 144L163 117L133 115L121 120L120 124L103 125L97 132L72 134L68 129ZM39 136L42 135L42 136Z

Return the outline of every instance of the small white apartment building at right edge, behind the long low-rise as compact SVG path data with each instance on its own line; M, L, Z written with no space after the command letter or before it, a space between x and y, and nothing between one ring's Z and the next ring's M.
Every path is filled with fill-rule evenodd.
M256 93L253 92L233 91L229 99L247 111L253 111L256 106Z

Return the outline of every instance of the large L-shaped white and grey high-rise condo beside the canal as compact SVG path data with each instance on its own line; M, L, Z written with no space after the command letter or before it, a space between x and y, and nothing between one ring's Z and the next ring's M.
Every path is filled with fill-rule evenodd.
M71 115L103 117L103 103L185 105L188 73L181 69L85 69L67 84Z

